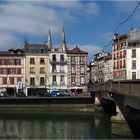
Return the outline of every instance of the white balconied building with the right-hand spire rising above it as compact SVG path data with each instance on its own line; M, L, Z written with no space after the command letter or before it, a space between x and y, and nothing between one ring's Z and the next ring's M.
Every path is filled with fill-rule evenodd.
M67 89L67 47L64 30L62 44L59 48L50 48L49 51L49 85L50 89Z

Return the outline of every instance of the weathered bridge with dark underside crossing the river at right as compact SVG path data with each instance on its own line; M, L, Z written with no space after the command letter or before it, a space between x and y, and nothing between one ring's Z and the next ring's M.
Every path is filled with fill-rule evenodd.
M114 101L133 134L136 138L140 138L140 80L108 81L104 84L96 84L93 93L98 98Z

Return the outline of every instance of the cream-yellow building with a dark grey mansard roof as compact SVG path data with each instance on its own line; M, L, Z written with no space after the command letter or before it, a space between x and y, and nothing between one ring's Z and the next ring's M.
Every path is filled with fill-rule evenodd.
M38 95L49 87L47 44L25 44L25 85L27 95Z

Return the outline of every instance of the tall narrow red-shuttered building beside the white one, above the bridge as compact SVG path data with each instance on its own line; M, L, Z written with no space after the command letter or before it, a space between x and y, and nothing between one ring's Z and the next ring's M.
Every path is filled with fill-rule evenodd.
M127 34L114 35L112 44L112 59L113 59L113 79L126 79L126 49L127 49Z

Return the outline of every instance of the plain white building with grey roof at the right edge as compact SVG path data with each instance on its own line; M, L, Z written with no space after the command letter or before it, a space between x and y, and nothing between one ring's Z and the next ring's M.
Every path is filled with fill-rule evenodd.
M132 28L127 41L127 79L140 79L140 31Z

